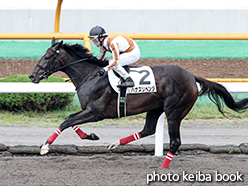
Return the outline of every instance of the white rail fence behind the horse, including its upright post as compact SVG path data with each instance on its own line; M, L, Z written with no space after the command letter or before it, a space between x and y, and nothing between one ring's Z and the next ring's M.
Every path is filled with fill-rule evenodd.
M228 91L247 93L248 82L221 82ZM199 88L199 87L198 87ZM0 93L76 93L72 83L0 83ZM155 133L155 156L163 156L164 113L160 116Z

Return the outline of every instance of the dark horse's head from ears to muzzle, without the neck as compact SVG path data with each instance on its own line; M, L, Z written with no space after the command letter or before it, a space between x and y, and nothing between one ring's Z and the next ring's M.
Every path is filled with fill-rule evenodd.
M34 70L29 75L29 78L33 83L39 83L42 79L48 78L48 76L59 68L61 65L61 61L59 60L59 49L62 44L63 41L55 43L55 39L53 38L52 46L43 54Z

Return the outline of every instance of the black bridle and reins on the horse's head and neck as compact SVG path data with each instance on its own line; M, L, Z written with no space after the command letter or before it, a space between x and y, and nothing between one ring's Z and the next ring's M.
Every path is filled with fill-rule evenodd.
M80 60L77 60L77 61L74 61L72 63L69 63L69 64L65 65L61 55L59 55L60 54L59 49L56 49L56 51L55 51L55 50L49 48L48 50L53 52L53 54L48 57L48 58L50 58L51 56L53 56L52 61L46 67L43 67L43 66L39 65L39 63L36 65L40 69L44 70L44 72L40 75L40 78L42 78L42 77L43 78L48 78L51 74L53 74L55 72L58 72L60 70L63 70L68 66L71 66L71 65L74 65L74 64L77 64L77 63L81 63L81 62L86 61L86 60L90 60L90 58L84 58L84 59L80 59ZM58 59L58 56L60 57L60 60ZM55 66L57 65L57 63L59 63L59 67L55 69ZM89 72L88 75L74 77L74 78L71 78L71 79L66 80L66 81L70 81L70 80L79 79L79 78L84 77L83 81L76 87L76 90L77 90L82 84L84 84L87 81L87 79L90 76L97 76L97 74L92 74L93 71L96 69L96 67L97 67L97 64L94 65L94 67L92 68L92 70Z

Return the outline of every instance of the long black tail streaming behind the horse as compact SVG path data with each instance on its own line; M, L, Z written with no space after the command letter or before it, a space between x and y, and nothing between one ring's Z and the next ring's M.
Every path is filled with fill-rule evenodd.
M206 79L195 77L196 82L200 84L201 90L199 96L208 94L209 99L218 107L218 110L224 115L222 101L235 112L242 112L248 108L248 98L235 101L228 90L219 83L208 81Z

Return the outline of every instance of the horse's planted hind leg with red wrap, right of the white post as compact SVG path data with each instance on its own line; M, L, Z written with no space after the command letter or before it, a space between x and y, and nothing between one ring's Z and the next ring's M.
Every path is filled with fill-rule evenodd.
M173 97L172 97L173 98ZM182 119L189 113L197 99L197 91L185 93L176 104L176 99L168 99L165 102L165 114L167 116L170 148L164 163L160 168L167 168L181 145L180 124ZM171 102L172 101L172 102Z

